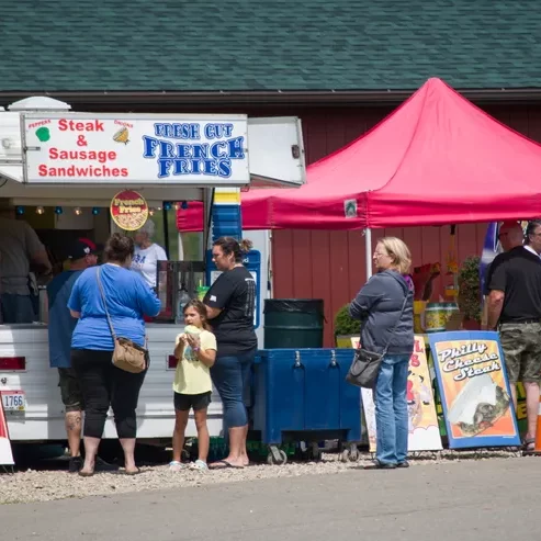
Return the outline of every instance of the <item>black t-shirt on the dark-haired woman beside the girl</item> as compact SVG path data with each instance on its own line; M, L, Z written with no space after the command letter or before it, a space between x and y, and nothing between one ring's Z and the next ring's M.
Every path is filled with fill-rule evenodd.
M245 267L223 272L207 291L204 303L212 308L222 308L210 322L216 336L217 357L257 348L253 330L256 281Z

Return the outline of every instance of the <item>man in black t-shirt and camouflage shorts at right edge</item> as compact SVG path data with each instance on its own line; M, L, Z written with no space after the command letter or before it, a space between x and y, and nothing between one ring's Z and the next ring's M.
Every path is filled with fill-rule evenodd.
M541 379L541 221L528 224L525 246L498 256L488 289L488 328L499 326L512 402L517 382L526 391L528 431L525 450L532 451Z

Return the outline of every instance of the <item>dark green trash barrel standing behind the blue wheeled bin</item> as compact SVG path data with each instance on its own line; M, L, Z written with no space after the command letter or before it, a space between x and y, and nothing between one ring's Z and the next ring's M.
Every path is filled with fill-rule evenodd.
M264 301L264 349L323 348L323 298Z

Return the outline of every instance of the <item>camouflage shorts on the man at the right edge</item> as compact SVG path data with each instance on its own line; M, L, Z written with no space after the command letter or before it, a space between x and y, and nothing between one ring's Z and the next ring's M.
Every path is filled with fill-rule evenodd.
M504 323L499 340L510 383L541 380L541 323Z

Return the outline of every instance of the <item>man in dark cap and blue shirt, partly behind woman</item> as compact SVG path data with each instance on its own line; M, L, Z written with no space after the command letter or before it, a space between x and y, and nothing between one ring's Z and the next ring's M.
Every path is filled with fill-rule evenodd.
M70 270L60 272L47 285L48 339L50 368L57 368L60 376L58 385L66 412L66 433L70 452L69 471L75 473L82 465L80 442L83 404L79 382L71 368L71 335L77 319L69 313L68 300L82 271L98 264L98 247L88 238L79 238L71 246L68 259Z

